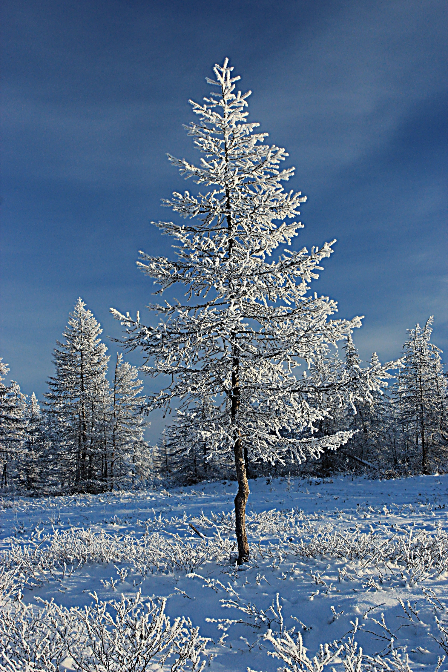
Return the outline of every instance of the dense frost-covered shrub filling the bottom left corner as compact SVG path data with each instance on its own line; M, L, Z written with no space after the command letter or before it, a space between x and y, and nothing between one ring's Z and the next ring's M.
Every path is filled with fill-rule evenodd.
M34 610L21 599L0 612L3 668L57 672L69 661L85 672L144 672L154 663L161 668L169 659L171 672L204 669L201 659L208 640L199 636L189 619L171 624L160 604L134 599L99 601L91 594L89 607L67 610L53 601ZM3 664L3 663L2 663Z

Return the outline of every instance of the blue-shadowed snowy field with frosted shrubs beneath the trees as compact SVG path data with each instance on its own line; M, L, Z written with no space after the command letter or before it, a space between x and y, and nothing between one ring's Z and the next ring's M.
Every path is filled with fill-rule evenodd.
M448 648L448 476L381 482L259 478L249 485L251 561L238 570L234 482L171 492L3 499L1 638L3 646L5 642L9 646L6 657L12 659L13 650L24 648L20 637L13 634L13 618L16 622L28 618L25 639L29 637L30 659L39 647L46 648L48 660L52 657L51 646L56 650L64 637L60 634L64 622L64 632L78 628L78 639L71 635L77 642L72 653L84 661L82 669L86 670L118 671L124 665L159 669L160 655L169 650L172 655L163 669L171 669L176 650L185 654L188 640L197 669L200 659L210 671L295 671L306 669L306 661L309 669L322 669L318 659L311 660L316 654L328 661L328 671L332 667L350 669L349 665L355 670L360 646L364 654L383 660L373 664L366 658L362 669L404 670L406 653L410 669L436 669L438 657ZM17 588L23 595L21 601L12 599ZM120 628L128 628L129 634L132 614L134 624L144 614L144 610L137 613L139 591L143 603L152 598L146 626L159 618L159 630L165 632L167 641L172 636L171 644L165 640L154 644L156 634L149 628L152 648L148 644L146 653L154 655L146 668L134 668L120 659L120 655L126 657L126 646L130 655L126 636L121 644L109 638L109 667L105 663L101 667L95 650L92 653L85 642L85 633L96 632L101 639L105 636L101 624L109 632L118 628L120 619L107 625L101 601L120 601L124 595L133 599L132 604L125 599L121 607L130 610L120 621ZM71 607L91 605L95 593L99 603L93 610L67 612ZM170 624L161 611L160 598L164 597ZM39 598L54 599L66 609L45 607ZM34 614L41 610L34 622L27 605L34 605ZM115 613L111 605L107 609ZM56 614L53 624L58 623L58 636L49 634L52 613ZM177 622L175 631L179 616L191 624ZM356 623L355 651L349 640ZM306 655L300 653L298 632ZM325 643L330 647L319 653L320 644ZM341 644L345 644L343 650ZM120 646L124 653L119 655ZM275 651L280 659L268 655ZM15 669L5 658L2 663L6 665L3 669ZM61 670L77 669L66 651L56 664ZM46 665L39 669L58 669L49 662ZM189 665L186 659L185 669ZM447 659L439 669L448 669Z

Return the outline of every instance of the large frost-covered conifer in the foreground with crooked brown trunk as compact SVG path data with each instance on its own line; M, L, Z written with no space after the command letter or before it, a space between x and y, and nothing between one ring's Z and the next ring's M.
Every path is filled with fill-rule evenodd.
M318 392L298 372L303 362L312 368L330 343L346 339L361 321L331 320L336 302L308 293L335 241L310 253L293 249L306 198L283 191L294 168L280 168L285 150L265 144L267 133L255 132L259 124L247 120L251 92L237 91L240 77L231 73L228 59L215 65L215 79L207 81L216 90L204 104L191 101L197 121L187 131L202 154L199 166L169 155L181 175L204 185L197 195L175 192L164 202L187 222L156 223L176 239L177 259L142 253L139 262L159 294L180 284L186 300L150 306L160 316L156 327L112 312L126 325L125 347L142 347L142 370L167 380L152 397L153 409L177 404L189 413L210 400L210 415L197 431L208 458L234 455L240 563L249 556L247 461L290 454L302 462L351 437L351 431L315 435L329 409L314 404ZM371 378L375 386L376 374Z

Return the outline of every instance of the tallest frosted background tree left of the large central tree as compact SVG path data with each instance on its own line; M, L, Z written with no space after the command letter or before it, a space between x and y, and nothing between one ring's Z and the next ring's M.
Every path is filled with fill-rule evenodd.
M99 476L103 439L103 399L107 389L107 348L101 343L101 328L79 298L69 323L57 341L54 377L46 408L57 439L54 458L61 484L79 484Z

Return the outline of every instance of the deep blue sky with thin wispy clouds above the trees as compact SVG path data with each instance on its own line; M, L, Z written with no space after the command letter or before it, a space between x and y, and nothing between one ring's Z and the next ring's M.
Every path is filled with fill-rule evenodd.
M138 250L197 161L182 128L229 56L251 119L308 196L296 245L336 238L314 289L365 315L363 360L406 329L447 335L447 4L442 1L3 1L1 352L27 394L81 296L109 353L109 306L144 314ZM446 360L446 353L444 355ZM139 355L132 361L140 363Z

